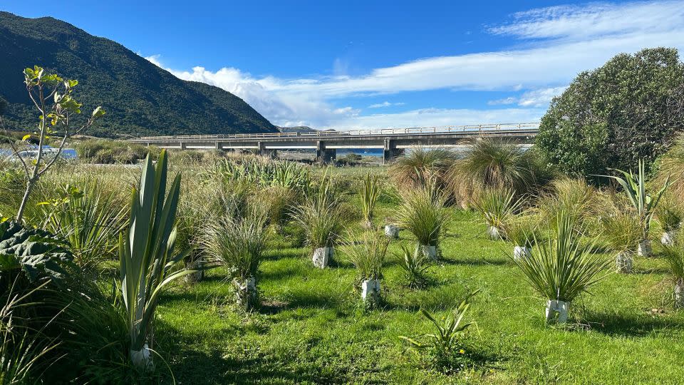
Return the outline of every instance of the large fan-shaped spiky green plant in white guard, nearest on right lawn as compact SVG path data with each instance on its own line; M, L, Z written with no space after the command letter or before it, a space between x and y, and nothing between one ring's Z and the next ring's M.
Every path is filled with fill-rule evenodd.
M527 258L514 260L532 288L547 299L546 322L564 323L568 307L604 277L599 275L611 260L594 254L592 245L581 243L581 231L561 212L556 219L556 236L537 242Z

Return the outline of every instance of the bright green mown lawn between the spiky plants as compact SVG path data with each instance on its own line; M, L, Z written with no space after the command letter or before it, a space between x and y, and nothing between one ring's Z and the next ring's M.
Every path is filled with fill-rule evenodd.
M356 173L356 172L351 172ZM361 175L361 174L359 174ZM391 215L383 202L379 218ZM684 317L668 302L665 261L638 258L633 274L609 274L571 308L569 328L544 324L537 297L471 212L454 210L444 260L424 290L403 287L390 245L382 309L368 312L355 270L316 270L309 252L274 235L261 265L262 307L239 312L226 272L177 285L158 311L157 350L179 384L678 384L684 379ZM356 225L350 224L350 225ZM655 231L654 231L655 234ZM608 273L608 272L606 272ZM467 336L475 364L459 374L426 369L398 338L431 332L420 307L444 316L469 292ZM653 312L652 309L658 309ZM161 363L160 363L161 364Z

